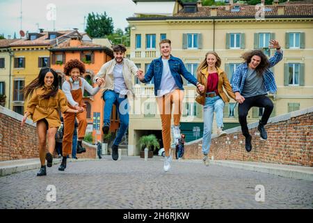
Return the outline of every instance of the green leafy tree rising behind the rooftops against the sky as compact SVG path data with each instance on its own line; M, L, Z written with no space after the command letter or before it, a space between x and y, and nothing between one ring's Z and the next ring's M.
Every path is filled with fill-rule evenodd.
M113 30L113 20L106 15L106 12L103 15L88 13L85 31L91 38L104 38L104 36L113 33Z

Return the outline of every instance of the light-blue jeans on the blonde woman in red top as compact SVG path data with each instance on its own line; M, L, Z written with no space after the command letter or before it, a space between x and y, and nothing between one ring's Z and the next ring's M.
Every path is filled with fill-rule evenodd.
M202 142L202 153L207 155L211 146L211 134L212 134L212 123L214 112L216 114L216 124L217 127L223 127L223 109L225 102L220 98L220 96L215 96L214 98L205 98L205 103L203 107L203 142Z

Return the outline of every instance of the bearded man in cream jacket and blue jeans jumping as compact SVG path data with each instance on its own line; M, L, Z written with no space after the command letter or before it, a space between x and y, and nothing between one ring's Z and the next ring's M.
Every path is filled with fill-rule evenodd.
M97 84L101 82L101 79L105 81L102 84L104 85L102 86L102 98L105 102L103 133L108 134L109 132L113 104L116 106L120 117L120 128L112 146L113 160L118 160L118 145L122 141L122 137L129 125L129 102L127 95L134 95L131 74L136 75L138 70L133 61L124 58L125 52L125 46L115 45L113 47L114 59L104 63L93 78L93 82Z

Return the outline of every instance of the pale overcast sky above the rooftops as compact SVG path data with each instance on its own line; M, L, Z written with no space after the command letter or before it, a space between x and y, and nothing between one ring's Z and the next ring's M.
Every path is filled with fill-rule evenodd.
M22 1L22 30L38 32L83 30L84 16L88 13L104 13L112 17L114 29L125 29L128 25L126 18L134 15L136 4L131 0L0 0L0 35L13 38L16 32L19 38L21 29ZM56 8L56 20L53 21L52 8ZM86 21L85 20L85 21ZM86 27L86 23L85 23Z

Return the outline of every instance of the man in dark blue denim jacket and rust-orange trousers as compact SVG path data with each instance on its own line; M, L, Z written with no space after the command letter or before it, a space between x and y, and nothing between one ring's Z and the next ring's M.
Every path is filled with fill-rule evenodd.
M163 146L166 152L164 171L170 169L170 162L172 161L172 155L170 155L172 104L174 104L174 126L172 126L172 131L175 143L178 143L178 139L181 136L179 122L182 116L182 101L184 99L182 76L188 82L197 86L199 91L204 91L204 86L188 72L182 60L170 54L170 43L168 39L161 40L159 45L162 56L150 63L150 67L145 75L141 69L138 69L137 72L137 77L143 83L150 82L152 77L154 79L154 95L157 96L157 103L159 105Z

